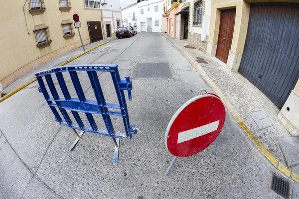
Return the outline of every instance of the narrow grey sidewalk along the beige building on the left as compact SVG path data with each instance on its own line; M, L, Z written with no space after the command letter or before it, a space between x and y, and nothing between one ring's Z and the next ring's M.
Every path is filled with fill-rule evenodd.
M109 40L111 40L111 41L116 40L116 37L109 37L109 38L101 40L101 41L97 41L97 42L94 42L94 43L87 44L87 45L84 46L84 48L85 48L85 50L88 50L88 49L91 49L91 48L93 48L93 47L95 47L95 46L97 46L101 43L104 43L106 41L109 41ZM42 71L42 70L45 70L45 69L49 69L49 68L52 68L52 67L56 67L59 64L62 64L63 62L79 55L82 52L83 52L83 48L79 47L75 50L69 51L69 52L67 52L63 55L60 55L60 56L58 56L58 57L42 64L42 65L40 65L39 67L37 67L34 70L30 71L29 73L25 74L23 77L19 78L18 80L16 80L12 84L8 85L3 90L3 92L8 94L8 93L14 91L18 87L22 86L23 84L25 84L25 83L29 82L30 80L32 80L33 78L35 78L35 73L36 72L39 72L39 71Z

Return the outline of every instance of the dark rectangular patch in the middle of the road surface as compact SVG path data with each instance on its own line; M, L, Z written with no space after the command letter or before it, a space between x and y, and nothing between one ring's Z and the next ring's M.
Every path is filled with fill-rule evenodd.
M132 78L173 78L168 63L138 63Z

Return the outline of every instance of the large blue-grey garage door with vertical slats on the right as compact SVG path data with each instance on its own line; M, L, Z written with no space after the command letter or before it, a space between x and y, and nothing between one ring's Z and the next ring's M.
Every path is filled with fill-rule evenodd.
M251 4L239 73L282 108L299 79L299 4Z

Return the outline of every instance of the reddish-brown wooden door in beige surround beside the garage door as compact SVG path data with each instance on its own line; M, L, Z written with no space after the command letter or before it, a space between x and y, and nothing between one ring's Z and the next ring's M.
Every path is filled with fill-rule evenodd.
M232 45L236 9L221 10L216 58L226 63Z

